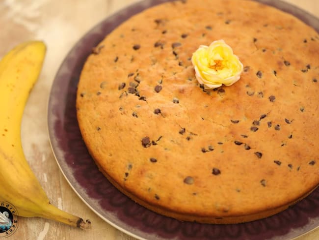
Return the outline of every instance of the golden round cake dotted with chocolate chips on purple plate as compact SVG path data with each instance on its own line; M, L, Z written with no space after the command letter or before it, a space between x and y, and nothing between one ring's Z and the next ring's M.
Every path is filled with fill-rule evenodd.
M192 55L223 39L243 71L207 89ZM239 223L319 185L319 34L250 0L177 0L122 23L86 60L77 117L100 171L183 221Z

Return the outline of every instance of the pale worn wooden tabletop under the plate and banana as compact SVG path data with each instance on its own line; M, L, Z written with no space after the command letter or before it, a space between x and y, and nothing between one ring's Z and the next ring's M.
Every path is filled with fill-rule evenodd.
M48 52L40 78L32 90L22 122L26 157L59 208L90 219L89 231L42 218L19 218L9 239L17 240L134 240L107 224L74 193L54 159L47 132L47 104L54 75L62 60L85 32L108 15L138 0L0 0L0 58L16 44L44 40ZM285 0L319 17L319 0ZM318 240L319 229L298 240Z

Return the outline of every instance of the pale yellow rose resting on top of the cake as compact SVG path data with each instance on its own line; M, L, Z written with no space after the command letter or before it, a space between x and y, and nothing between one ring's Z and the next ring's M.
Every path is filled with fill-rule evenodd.
M213 41L210 46L201 45L191 61L197 81L207 89L236 83L243 69L239 58L224 40Z

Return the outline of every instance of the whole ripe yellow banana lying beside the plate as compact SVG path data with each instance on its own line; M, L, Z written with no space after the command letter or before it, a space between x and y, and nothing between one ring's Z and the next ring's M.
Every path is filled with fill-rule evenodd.
M16 46L0 61L0 201L13 205L19 216L44 217L90 228L89 220L83 221L50 204L22 149L21 120L45 54L42 41L28 41Z

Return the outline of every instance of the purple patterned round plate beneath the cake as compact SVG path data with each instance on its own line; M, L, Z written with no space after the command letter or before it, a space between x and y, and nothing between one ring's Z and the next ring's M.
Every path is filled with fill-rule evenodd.
M292 13L319 32L319 20L283 1L258 0ZM106 222L140 240L288 240L319 228L319 188L288 210L241 224L181 222L150 211L118 191L99 172L82 141L76 117L76 91L82 66L111 30L132 15L165 0L143 0L106 18L85 34L62 62L53 81L49 137L57 164L82 201Z

